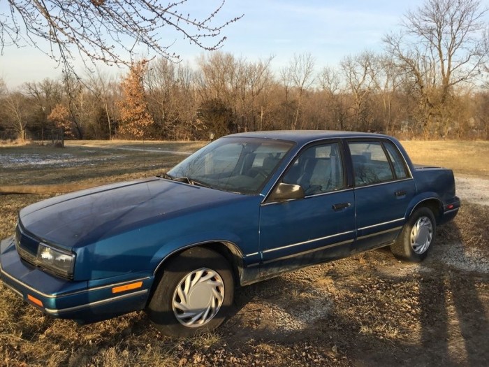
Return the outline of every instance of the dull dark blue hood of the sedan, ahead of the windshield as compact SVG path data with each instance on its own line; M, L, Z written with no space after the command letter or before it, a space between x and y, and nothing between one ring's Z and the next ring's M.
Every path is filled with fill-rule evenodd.
M148 178L40 201L19 214L24 231L62 247L80 247L244 195Z

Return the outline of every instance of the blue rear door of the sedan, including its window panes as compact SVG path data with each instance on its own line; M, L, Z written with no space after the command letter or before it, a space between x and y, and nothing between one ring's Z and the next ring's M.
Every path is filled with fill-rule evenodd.
M414 180L388 140L348 141L355 185L357 236L353 252L391 243L402 229Z

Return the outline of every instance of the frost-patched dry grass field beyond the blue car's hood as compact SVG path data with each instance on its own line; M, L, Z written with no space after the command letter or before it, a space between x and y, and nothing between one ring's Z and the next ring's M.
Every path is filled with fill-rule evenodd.
M0 186L59 185L85 186L131 180L161 174L184 159L184 155L152 150L147 144L133 143L138 150L122 150L116 143L71 142L64 148L29 145L0 147ZM124 143L124 147L126 143ZM110 147L101 147L110 145ZM165 151L194 152L203 143L153 143ZM139 150L140 149L140 150ZM61 163L60 163L61 161ZM4 164L2 162L10 162ZM30 162L30 163L29 163Z

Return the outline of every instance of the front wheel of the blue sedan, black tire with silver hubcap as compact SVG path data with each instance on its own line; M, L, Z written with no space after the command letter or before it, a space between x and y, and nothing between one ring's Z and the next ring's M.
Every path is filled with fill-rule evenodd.
M164 266L146 311L161 333L184 338L222 324L233 296L228 261L217 252L193 247Z

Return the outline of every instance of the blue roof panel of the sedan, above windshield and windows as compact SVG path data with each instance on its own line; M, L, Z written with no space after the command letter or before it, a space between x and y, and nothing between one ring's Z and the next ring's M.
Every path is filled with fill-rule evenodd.
M382 134L361 133L357 131L335 131L335 130L275 130L275 131L250 131L228 136L243 138L267 138L275 140L293 141L295 143L307 143L326 138L391 138Z

